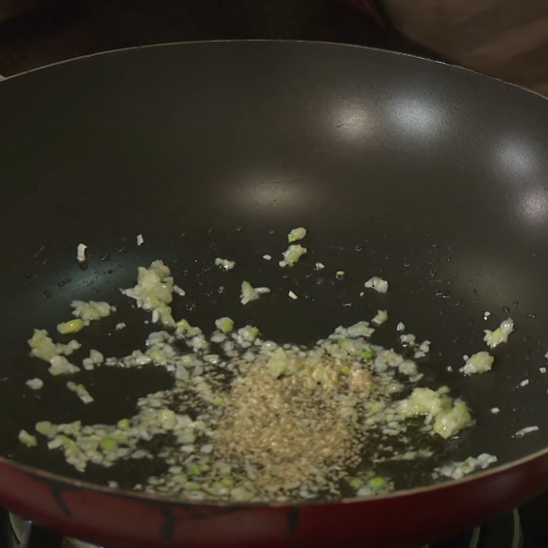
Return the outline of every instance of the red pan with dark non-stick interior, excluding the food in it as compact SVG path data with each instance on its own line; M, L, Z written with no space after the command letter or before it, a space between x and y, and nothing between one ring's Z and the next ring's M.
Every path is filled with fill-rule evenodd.
M141 395L169 386L169 376L152 367L82 372L76 378L96 402L79 405L66 378L47 375L25 344L33 327L54 332L72 299L105 299L119 312L82 333L84 348L123 356L142 347L147 314L118 288L132 286L136 266L156 258L186 289L176 315L204 329L229 315L273 340L312 343L388 308L377 341L397 345L399 321L432 340L421 365L425 383L449 384L475 412L477 425L450 440L443 459L487 452L504 466L547 447L548 374L539 371L548 362L542 97L385 51L203 42L97 55L10 78L0 85L0 120L4 456L125 488L153 471L116 466L80 475L54 451L27 449L17 433L44 419L115 421ZM309 253L282 273L262 255L276 258L297 225L309 230ZM79 242L89 246L85 270L75 262ZM217 256L238 268L214 269ZM327 268L314 271L316 261ZM344 281L336 281L337 270ZM390 281L388 295L360 297L371 275ZM271 298L241 306L244 277L273 288ZM301 298L290 301L289 289ZM493 371L458 373L463 354L485 349L483 329L509 315L516 332L494 351ZM119 321L128 327L116 332ZM35 376L46 385L32 392L25 381ZM538 432L514 436L532 425ZM548 486L542 452L470 481L366 502L195 509L43 479L12 460L0 463L0 501L42 523L132 546L412 542ZM407 489L426 473L419 466L398 477Z

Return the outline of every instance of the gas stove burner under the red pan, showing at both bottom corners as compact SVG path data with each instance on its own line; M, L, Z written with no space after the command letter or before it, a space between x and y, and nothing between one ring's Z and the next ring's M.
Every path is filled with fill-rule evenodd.
M10 513L5 522L10 540L3 543L0 538L0 548L105 548L49 532L16 514ZM471 532L419 548L523 548L519 512L513 510Z

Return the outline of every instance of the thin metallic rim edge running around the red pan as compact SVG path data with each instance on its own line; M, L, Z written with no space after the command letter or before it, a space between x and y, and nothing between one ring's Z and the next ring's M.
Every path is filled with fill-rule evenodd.
M521 86L519 84L513 84L512 82L507 82L501 78L493 77L484 73L480 73L478 71L474 71L472 69L466 69L463 66L459 66L457 64L451 64L448 62L443 62L439 60L429 59L422 57L421 55L414 55L412 53L403 53L399 51L392 51L388 49L382 49L377 47L368 47L368 46L362 46L362 45L354 45L354 44L347 44L344 42L327 42L325 40L271 40L271 39L250 39L250 40L241 40L241 39L235 39L235 40L191 40L188 42L162 42L158 44L150 44L150 45L142 45L142 46L132 46L132 47L125 47L120 49L110 49L107 51L99 51L95 53L88 53L85 55L79 55L74 58L69 58L65 60L60 60L57 62L53 62L50 64L46 64L44 66L38 66L34 69L29 69L28 71L23 71L21 73L16 73L14 75L5 76L4 79L1 80L0 86L5 85L6 82L11 82L16 79L19 79L21 77L26 77L27 75L32 75L33 73L36 73L37 71L42 71L44 69L50 69L55 66L63 65L63 64L70 64L74 62L83 62L85 60L88 60L88 58L96 58L103 55L112 55L116 53L126 53L136 50L142 50L142 49L156 49L156 48L167 48L167 47L184 47L186 45L221 45L221 44L230 44L230 45L256 45L256 44L262 44L266 43L269 45L299 45L299 47L329 47L329 48L340 48L340 49L356 49L356 50L366 50L366 51L374 51L377 54L380 55L390 55L395 58L414 58L416 60L419 60L420 62L425 62L429 64L439 64L443 67L447 67L450 71L458 71L458 72L464 72L469 73L472 75L472 77L480 77L482 79L490 79L493 82L497 82L498 84L502 84L503 86L510 86L512 88L515 88L517 90L521 90L521 92L526 92L527 94L533 95L535 97L538 97L543 100L548 100L548 97L545 95L540 94L540 92L536 92L535 90L531 90L529 88L525 88L524 86ZM497 84L497 85L498 85ZM2 88L0 87L0 90ZM510 469L515 469L519 466L523 466L527 464L528 462L532 462L534 460L538 460L542 458L543 456L548 456L548 445L545 447L545 449L540 449L539 451L536 451L535 453L530 453L527 456L521 457L516 460L512 460L510 462L506 462L505 464L500 464L497 466L490 467L488 469L485 469L483 471L479 471L477 473L473 473L469 476L462 477L461 479L447 479L447 481L440 482L439 484L429 485L429 486L420 486L410 489L403 489L403 490L397 490L393 493L386 493L384 495L375 495L375 496L369 496L369 497L353 497L353 498L346 498L346 499L333 499L333 500L327 500L327 501L295 501L295 502L284 502L284 503L275 503L275 502L268 502L268 501L257 501L257 502L226 502L226 501L219 501L216 499L203 499L203 500L192 500L192 499L184 499L182 497L170 497L167 495L161 495L157 493L145 493L141 491L136 490L125 490L120 488L111 488L105 485L96 484L93 482L88 482L85 479L76 479L73 477L61 475L58 473L52 473L50 471L47 471L46 469L38 468L37 466L31 466L29 464L24 464L22 462L17 462L16 460L12 460L5 456L0 456L0 464L3 466L7 466L11 469L16 469L18 471L21 471L23 473L26 473L28 475L31 475L33 477L43 479L49 482L56 482L58 484L62 484L65 486L70 486L72 488L83 488L91 491L95 491L98 493L104 493L105 495L112 495L115 497L123 498L123 499L131 499L134 501L154 501L156 503L170 503L173 505L179 505L179 506L210 506L215 508L234 508L235 510L238 508L290 508L293 506L298 506L299 508L303 507L312 507L312 506L329 506L334 504L363 504L363 503L371 503L373 501L381 501L381 500L388 500L388 499L395 499L398 497L408 497L412 495L420 495L421 493L433 493L440 489L447 489L447 488L453 488L454 486L467 484L470 482L479 481L481 479L486 479L493 475L498 475L500 473L504 473Z

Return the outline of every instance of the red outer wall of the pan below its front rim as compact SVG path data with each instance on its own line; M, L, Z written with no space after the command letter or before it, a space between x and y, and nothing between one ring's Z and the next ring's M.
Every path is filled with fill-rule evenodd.
M543 453L391 497L308 506L199 506L117 494L0 462L3 506L69 536L116 548L411 547L482 523L546 484Z

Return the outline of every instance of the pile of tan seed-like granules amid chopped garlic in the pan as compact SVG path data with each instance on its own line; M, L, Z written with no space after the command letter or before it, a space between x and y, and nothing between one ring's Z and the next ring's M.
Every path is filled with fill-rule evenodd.
M264 493L319 485L322 476L323 488L337 493L333 483L340 467L360 462L359 445L353 443L360 433L338 414L338 399L314 386L315 360L303 362L297 373L281 379L265 364L251 366L234 381L216 429L216 456L255 466L253 488Z

